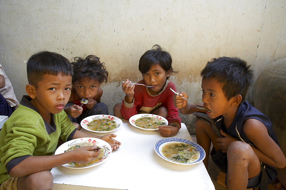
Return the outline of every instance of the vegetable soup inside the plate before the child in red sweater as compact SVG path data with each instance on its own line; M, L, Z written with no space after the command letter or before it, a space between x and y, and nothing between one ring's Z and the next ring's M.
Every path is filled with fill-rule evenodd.
M159 118L142 117L135 120L134 124L137 127L145 129L158 129L159 126L166 125L166 122L163 122L162 119Z

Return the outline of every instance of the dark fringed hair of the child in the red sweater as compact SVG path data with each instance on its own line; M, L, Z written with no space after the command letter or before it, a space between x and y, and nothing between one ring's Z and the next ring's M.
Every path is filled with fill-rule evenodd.
M170 53L163 51L159 45L154 45L151 50L146 51L139 60L139 70L145 74L153 64L159 64L165 71L172 70L172 57Z

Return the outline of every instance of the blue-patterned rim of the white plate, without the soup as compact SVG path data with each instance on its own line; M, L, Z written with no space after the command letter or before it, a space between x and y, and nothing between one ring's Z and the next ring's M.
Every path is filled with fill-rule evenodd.
M166 157L164 157L164 155L162 154L162 147L164 147L167 143L170 143L170 142L182 142L182 143L190 144L190 145L194 146L200 152L200 157L196 161L190 162L190 163L178 163L178 162L174 162L172 160L169 160ZM169 137L169 138L161 139L158 142L156 142L154 149L155 149L156 153L161 158L163 158L164 160L167 160L167 161L175 163L175 164L181 164L181 165L196 164L196 163L201 162L206 157L206 152L204 151L204 149L200 145L198 145L197 143L192 142L190 140L183 139L183 138Z

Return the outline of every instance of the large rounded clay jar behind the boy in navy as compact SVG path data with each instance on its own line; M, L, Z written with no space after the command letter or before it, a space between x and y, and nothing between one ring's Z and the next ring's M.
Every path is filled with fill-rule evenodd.
M286 58L267 65L254 85L254 107L269 117L280 147L286 155ZM278 169L286 187L286 168Z

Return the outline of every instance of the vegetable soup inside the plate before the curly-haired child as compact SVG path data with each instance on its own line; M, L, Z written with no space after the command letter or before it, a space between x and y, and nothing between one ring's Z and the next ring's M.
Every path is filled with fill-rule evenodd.
M86 125L88 129L93 131L111 131L117 126L118 124L109 118L97 118Z

